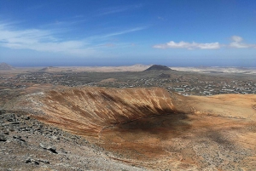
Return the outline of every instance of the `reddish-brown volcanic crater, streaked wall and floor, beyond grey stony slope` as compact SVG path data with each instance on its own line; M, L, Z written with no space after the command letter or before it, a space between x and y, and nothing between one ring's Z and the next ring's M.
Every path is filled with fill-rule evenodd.
M183 97L163 88L62 88L6 106L153 169L255 170L256 95Z

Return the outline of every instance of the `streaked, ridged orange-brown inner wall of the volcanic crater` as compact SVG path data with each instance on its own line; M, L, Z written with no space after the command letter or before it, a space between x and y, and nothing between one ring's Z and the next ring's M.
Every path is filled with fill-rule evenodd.
M38 119L65 129L76 128L75 134L80 135L95 135L103 128L183 112L176 109L172 97L162 88L66 88L28 94L19 103L41 113L36 115Z

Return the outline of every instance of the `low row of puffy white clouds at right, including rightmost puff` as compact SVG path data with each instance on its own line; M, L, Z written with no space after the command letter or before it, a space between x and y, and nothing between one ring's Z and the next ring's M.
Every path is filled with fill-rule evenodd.
M233 36L231 37L230 44L220 44L220 43L187 43L187 42L179 42L175 43L173 41L164 44L155 44L153 48L187 48L187 49L218 49L222 47L230 47L230 48L256 48L256 44L248 44L243 43L242 37Z

